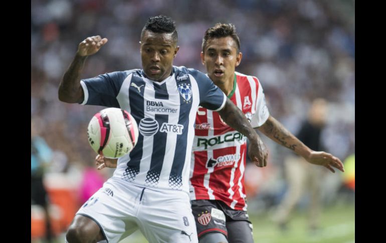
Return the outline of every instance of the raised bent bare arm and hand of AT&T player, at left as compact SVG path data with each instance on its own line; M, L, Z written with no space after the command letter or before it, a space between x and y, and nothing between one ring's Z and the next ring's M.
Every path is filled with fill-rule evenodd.
M80 103L84 99L80 85L80 72L87 56L93 55L107 43L107 39L100 36L88 37L78 45L78 51L70 67L64 73L59 85L59 100L67 103Z

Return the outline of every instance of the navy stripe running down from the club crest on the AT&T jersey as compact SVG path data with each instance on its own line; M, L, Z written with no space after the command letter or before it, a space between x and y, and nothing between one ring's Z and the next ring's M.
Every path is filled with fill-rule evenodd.
M169 176L169 187L171 189L179 189L182 186L182 169L185 164L186 157L186 142L187 142L187 131L189 130L189 111L191 109L191 100L193 97L186 92L190 87L191 92L191 82L188 75L184 75L183 72L176 72L175 77L177 88L184 87L184 91L179 91L179 117L178 124L183 125L183 132L180 135L177 135L176 145L178 152L174 154L173 164L171 166L170 176ZM187 100L188 99L188 100ZM181 111L184 111L181 113ZM187 112L186 112L187 111Z

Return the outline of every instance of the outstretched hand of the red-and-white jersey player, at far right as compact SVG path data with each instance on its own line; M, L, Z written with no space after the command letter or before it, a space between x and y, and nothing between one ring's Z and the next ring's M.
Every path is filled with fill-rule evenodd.
M332 173L335 173L335 170L332 167L335 167L338 170L344 172L342 161L330 153L326 153L324 151L312 151L308 158L305 159L311 164L317 164L326 167Z

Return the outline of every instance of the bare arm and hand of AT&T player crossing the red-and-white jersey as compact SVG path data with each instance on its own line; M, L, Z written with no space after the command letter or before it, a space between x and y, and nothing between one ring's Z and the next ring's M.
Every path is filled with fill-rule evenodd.
M250 159L259 167L267 166L267 148L243 112L228 98L224 108L218 112L230 127L236 129L249 139L248 156Z

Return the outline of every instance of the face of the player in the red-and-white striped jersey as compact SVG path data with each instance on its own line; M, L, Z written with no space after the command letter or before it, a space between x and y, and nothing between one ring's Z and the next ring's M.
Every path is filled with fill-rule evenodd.
M242 53L237 53L237 44L232 37L214 38L208 40L201 60L208 76L216 85L232 82L235 68L239 66Z

